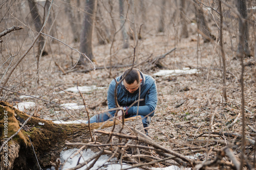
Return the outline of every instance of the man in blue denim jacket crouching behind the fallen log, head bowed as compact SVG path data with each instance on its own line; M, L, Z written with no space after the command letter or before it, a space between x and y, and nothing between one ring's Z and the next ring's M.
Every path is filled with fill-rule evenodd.
M116 108L115 104L115 86L122 78L123 81L117 86L117 102L123 107L124 118L141 116L143 127L150 125L151 117L154 116L157 106L157 87L155 80L148 75L144 75L137 68L129 68L124 73L112 80L108 90L108 106L109 109ZM143 99L139 102L138 99ZM123 110L117 112L117 118L122 119ZM109 111L109 113L102 113L90 118L90 123L105 122L113 118L116 111ZM147 133L147 131L145 131Z

